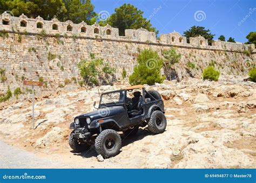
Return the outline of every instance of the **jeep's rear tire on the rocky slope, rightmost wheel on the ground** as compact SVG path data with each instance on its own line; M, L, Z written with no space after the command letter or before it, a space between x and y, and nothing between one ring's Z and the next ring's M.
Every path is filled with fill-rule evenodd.
M167 125L166 117L163 112L156 110L153 111L147 126L152 133L163 133Z

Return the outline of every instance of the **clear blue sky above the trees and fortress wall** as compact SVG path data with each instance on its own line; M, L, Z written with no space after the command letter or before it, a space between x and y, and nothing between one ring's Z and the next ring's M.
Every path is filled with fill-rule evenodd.
M107 11L110 15L124 3L144 11L145 18L151 17L151 24L159 34L174 30L183 34L191 26L198 25L216 34L214 39L223 34L226 39L233 37L244 43L246 35L256 31L255 0L92 0L97 13Z

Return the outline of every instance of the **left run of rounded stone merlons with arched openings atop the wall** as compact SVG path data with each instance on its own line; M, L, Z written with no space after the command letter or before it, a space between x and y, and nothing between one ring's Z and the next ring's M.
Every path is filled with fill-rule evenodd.
M73 34L81 37L93 37L96 38L116 38L118 37L118 29L113 28L110 25L104 27L95 23L93 25L87 25L85 22L74 24L71 20L66 22L59 22L57 18L52 20L44 20L42 17L35 19L28 18L25 15L19 17L13 17L9 13L4 12L0 15L0 31L6 32L18 32L18 33L34 33L41 34L44 31L45 34L62 36L72 36ZM3 21L8 22L8 25L4 25ZM25 25L25 26L22 26Z

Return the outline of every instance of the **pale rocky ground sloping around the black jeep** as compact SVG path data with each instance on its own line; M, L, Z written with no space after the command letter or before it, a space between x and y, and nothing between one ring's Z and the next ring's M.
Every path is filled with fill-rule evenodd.
M35 130L31 128L31 98L1 103L1 140L50 159L49 168L56 164L66 168L256 167L256 83L236 76L221 76L218 82L189 78L146 86L158 90L164 99L164 133L151 135L144 128L136 137L122 135L121 152L104 161L97 160L93 146L87 152L72 152L68 136L73 117L94 110L93 101L99 101L100 93L121 87L102 86L86 92L66 86L37 96ZM4 149L2 154L12 153Z

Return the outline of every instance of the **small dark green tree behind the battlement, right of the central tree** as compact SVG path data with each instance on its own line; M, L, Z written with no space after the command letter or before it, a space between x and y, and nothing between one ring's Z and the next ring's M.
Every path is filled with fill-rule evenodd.
M202 36L205 39L208 39L208 44L212 45L212 40L215 34L212 34L210 30L205 30L205 27L200 26L192 26L191 29L183 32L184 36L187 38L187 42L189 43L190 37L198 37Z

